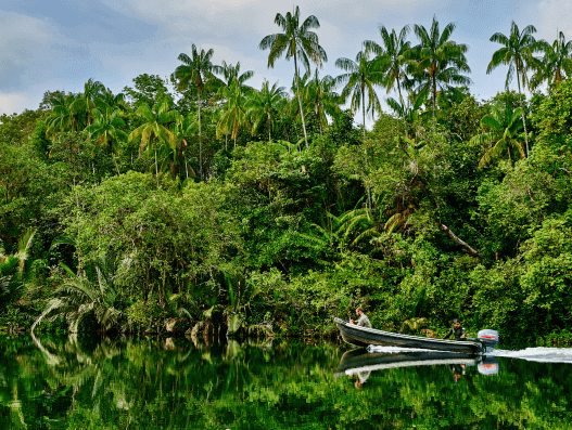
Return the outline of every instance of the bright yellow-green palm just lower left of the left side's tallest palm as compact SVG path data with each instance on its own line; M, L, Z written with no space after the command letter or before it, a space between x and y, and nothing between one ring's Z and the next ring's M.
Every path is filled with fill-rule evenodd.
M141 139L140 153L143 147L147 147L149 151L153 146L155 152L155 174L158 174L157 141L167 142L171 148L177 147L177 138L169 130L169 126L178 120L179 113L169 110L168 101L163 100L156 103L153 109L148 105L141 105L137 109L137 115L141 116L145 120L145 123L129 134L129 142L135 139Z

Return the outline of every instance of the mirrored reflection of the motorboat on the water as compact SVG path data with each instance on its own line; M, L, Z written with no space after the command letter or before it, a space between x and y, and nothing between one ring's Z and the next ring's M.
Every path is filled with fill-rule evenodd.
M479 354L459 354L445 351L368 352L366 349L346 351L340 361L334 377L359 375L374 370L420 366L478 366L479 373L498 373L498 361Z

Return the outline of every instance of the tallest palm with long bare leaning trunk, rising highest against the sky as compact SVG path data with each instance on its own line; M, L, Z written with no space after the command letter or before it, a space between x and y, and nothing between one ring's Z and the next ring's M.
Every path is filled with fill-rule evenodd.
M300 61L306 71L309 71L309 63L313 62L321 67L323 62L328 61L326 51L320 47L318 35L310 31L313 28L320 28L318 18L314 15L308 16L302 25L300 25L300 8L296 6L294 13L288 12L285 17L277 13L275 23L283 30L266 36L258 45L259 49L269 49L268 67L274 67L278 58L285 55L287 60L294 58L294 79L296 80L296 96L300 104L300 112L302 113L302 128L304 130L304 140L306 147L308 146L308 136L306 133L306 122L304 120L302 97L300 95L298 80L300 73L297 62Z

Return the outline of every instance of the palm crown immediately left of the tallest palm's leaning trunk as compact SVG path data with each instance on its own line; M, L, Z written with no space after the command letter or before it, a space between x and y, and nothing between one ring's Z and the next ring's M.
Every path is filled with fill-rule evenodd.
M271 142L274 116L285 104L288 93L284 91L284 87L278 87L278 81L270 88L269 82L265 80L260 91L252 91L249 95L245 107L247 108L246 118L252 121L252 134L255 134L258 127L267 120L268 142Z

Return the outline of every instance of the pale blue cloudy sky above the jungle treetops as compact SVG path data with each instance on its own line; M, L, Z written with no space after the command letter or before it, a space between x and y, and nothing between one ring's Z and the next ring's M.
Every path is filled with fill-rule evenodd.
M469 45L471 92L488 99L503 90L506 68L486 75L500 45L488 39L509 34L510 22L534 25L537 38L552 42L558 30L572 39L569 0L300 0L302 18L315 15L328 54L320 75L336 76L335 60L354 60L364 40L381 42L378 26L423 25L436 16L441 28L453 22L452 39ZM141 74L169 76L191 43L214 49L213 62L240 62L254 70L249 83L266 79L289 88L293 62L267 68L268 51L258 43L279 31L277 13L294 3L276 0L0 0L0 115L36 109L46 91L81 92L94 78L114 93ZM412 44L418 40L411 32ZM516 86L516 82L513 82ZM380 99L386 97L379 89ZM390 94L395 96L394 94Z

